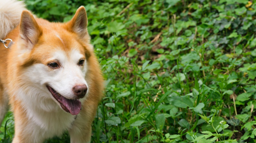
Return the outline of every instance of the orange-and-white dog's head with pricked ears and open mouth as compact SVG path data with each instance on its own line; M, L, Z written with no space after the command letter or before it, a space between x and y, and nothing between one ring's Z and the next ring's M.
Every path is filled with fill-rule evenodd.
M79 114L81 100L90 91L86 74L93 48L89 42L83 6L68 23L35 20L29 11L23 11L17 46L24 69L22 79L43 91L44 99L54 100L66 112Z

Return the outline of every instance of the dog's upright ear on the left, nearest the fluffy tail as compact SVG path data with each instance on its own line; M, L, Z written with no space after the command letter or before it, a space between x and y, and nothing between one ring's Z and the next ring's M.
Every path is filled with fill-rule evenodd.
M26 43L26 47L31 50L37 43L42 30L35 21L33 15L28 10L22 11L20 20L20 36Z

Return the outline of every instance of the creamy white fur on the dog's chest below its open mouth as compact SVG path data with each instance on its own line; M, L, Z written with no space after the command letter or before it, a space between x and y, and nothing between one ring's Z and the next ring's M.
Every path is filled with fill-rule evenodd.
M33 95L32 91L34 91ZM22 101L22 106L28 117L28 125L24 130L30 130L31 135L36 137L36 141L60 136L71 128L76 116L63 111L54 100L47 98L43 92L35 92L33 88L27 92L31 94L25 94L24 90L17 92L19 92L18 99Z

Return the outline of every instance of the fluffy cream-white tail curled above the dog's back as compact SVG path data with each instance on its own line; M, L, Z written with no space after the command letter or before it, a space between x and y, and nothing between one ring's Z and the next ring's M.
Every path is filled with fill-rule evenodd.
M18 0L0 0L0 39L11 32L20 23L25 4Z

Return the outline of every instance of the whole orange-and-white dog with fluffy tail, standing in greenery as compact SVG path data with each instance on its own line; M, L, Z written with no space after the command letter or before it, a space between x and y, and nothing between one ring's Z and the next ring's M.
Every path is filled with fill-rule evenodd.
M12 143L43 143L68 131L90 143L104 90L83 6L67 23L51 23L22 1L0 0L0 122L14 113ZM8 47L8 48L5 48Z

